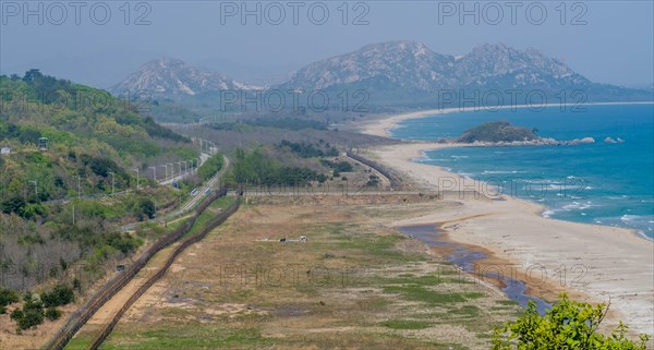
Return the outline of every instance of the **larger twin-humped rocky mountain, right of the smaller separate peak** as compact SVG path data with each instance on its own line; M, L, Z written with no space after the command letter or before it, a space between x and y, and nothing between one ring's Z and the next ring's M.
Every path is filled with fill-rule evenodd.
M456 58L434 52L420 43L390 41L312 63L284 85L314 89L353 83L435 92L471 86L554 89L590 82L534 49L519 51L502 44L483 45Z

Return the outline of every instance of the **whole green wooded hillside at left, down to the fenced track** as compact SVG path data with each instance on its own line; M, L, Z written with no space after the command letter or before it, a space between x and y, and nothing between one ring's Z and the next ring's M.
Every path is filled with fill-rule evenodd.
M37 292L64 276L82 292L156 239L159 229L121 230L183 197L152 180L149 167L199 155L136 107L38 70L0 76L0 287Z

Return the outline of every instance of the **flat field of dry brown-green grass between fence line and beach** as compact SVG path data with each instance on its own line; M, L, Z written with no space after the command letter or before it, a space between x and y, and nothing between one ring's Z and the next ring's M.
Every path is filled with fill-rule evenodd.
M102 349L486 349L518 306L384 225L444 205L253 198L186 250ZM299 236L308 242L278 241Z

